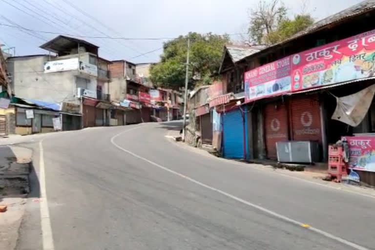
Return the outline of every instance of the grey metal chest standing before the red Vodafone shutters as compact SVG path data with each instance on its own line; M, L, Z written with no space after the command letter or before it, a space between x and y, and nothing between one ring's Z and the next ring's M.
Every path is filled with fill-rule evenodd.
M318 142L290 141L277 142L277 160L290 163L313 163L320 159Z

